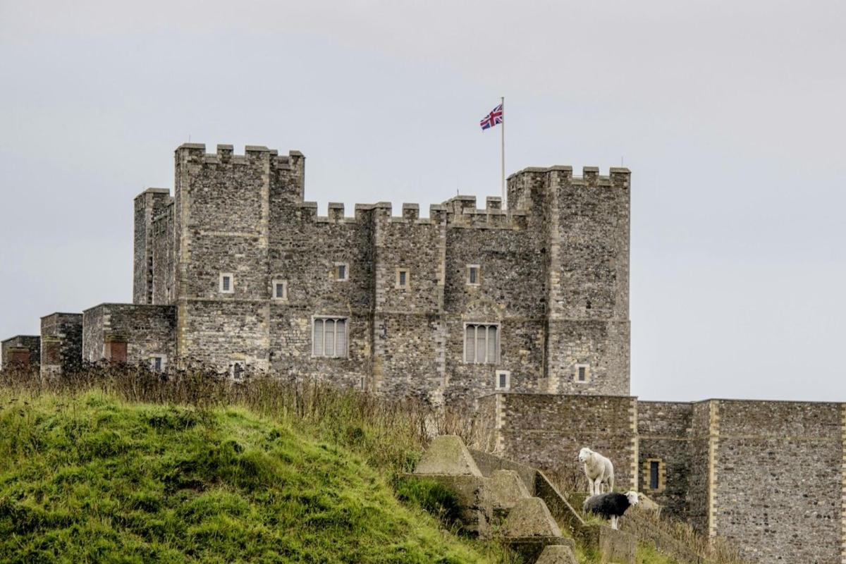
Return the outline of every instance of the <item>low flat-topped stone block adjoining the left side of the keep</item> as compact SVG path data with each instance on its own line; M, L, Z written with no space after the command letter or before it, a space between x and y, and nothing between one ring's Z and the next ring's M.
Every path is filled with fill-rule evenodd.
M176 355L176 309L170 305L100 304L83 312L83 359L106 359L105 344L126 342L128 364L149 365L153 355Z

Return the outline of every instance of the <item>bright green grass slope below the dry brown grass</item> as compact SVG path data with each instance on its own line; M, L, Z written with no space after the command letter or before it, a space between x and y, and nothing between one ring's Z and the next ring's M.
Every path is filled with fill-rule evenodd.
M487 561L360 453L284 419L29 397L0 408L0 561Z

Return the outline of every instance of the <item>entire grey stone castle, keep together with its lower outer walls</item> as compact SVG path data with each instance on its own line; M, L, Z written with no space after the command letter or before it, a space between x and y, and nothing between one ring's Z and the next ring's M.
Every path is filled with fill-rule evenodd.
M504 456L554 469L589 445L751 560L846 564L846 403L630 397L629 189L625 168L526 168L507 209L317 216L299 152L182 145L173 195L135 198L133 303L47 315L3 366L202 364L476 408Z

